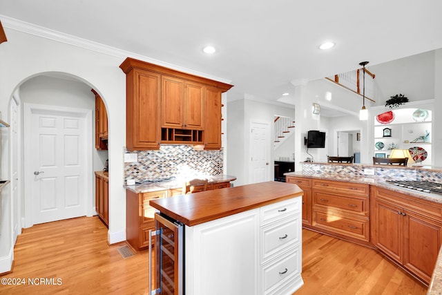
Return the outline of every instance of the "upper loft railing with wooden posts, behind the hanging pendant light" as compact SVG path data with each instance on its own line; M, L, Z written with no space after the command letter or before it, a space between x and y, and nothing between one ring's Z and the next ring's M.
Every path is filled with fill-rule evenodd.
M365 68L365 74L372 79L367 79L365 76L365 98L374 101L374 97L376 97L376 85L374 84L375 75L371 73L367 68ZM339 86L347 88L349 91L353 91L358 95L362 95L362 75L363 68L358 68L357 70L350 70L346 73L341 73L334 75L334 77L325 77L325 79L332 81Z

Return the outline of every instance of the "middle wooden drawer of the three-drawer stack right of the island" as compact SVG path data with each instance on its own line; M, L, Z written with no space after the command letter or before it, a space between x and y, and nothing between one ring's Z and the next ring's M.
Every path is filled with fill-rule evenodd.
M362 216L369 216L368 213L368 197L349 197L339 196L324 191L315 190L313 192L314 205L334 207L356 213Z

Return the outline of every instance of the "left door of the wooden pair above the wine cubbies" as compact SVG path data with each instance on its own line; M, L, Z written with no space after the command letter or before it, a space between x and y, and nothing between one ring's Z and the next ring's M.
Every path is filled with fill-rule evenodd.
M163 127L178 127L184 125L184 82L182 79L162 77L161 120Z

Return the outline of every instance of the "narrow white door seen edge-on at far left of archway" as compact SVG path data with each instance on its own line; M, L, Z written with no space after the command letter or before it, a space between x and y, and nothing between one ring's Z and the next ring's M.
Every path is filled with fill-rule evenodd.
M15 245L21 232L21 196L19 193L19 100L14 97L10 104L11 131L11 196L12 196L12 243Z

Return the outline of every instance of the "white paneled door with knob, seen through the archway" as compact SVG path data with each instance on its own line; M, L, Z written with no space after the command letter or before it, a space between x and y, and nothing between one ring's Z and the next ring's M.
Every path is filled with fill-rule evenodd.
M86 215L88 140L84 113L32 109L30 179L32 224ZM28 175L29 174L29 175ZM91 176L90 176L91 177Z

